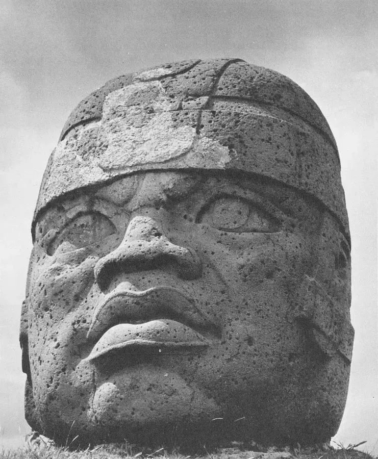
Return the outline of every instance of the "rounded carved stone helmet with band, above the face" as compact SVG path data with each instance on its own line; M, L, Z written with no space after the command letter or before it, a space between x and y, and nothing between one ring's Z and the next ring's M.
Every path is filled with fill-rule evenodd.
M123 75L82 100L49 158L34 222L75 189L168 169L269 177L323 203L349 240L338 150L320 109L289 78L240 59Z

